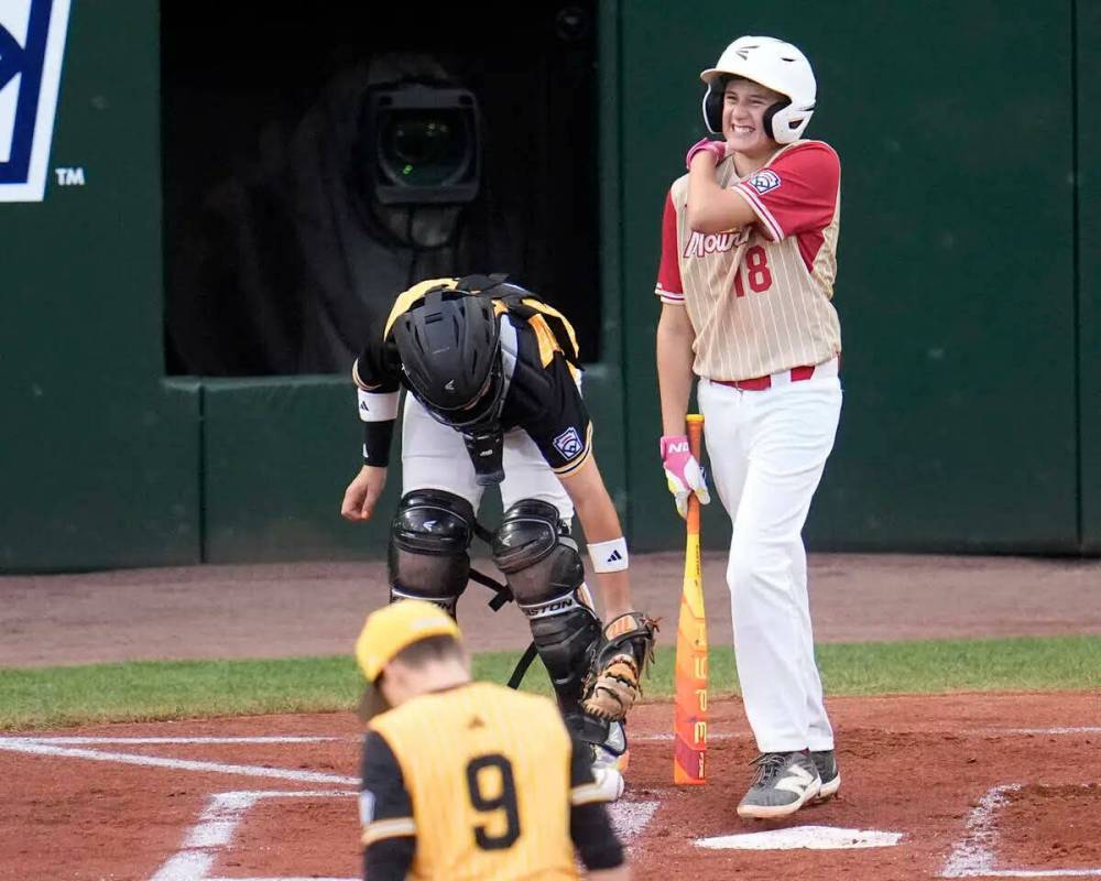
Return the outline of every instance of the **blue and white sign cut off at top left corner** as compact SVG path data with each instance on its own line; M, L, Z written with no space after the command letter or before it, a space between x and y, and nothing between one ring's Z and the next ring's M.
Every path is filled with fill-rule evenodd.
M42 202L69 0L0 0L0 202Z

